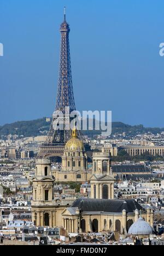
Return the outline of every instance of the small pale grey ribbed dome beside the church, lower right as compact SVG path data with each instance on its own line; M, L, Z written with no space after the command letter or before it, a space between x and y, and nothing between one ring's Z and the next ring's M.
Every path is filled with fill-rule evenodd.
M128 235L150 235L153 233L154 229L142 217L139 217L128 230Z

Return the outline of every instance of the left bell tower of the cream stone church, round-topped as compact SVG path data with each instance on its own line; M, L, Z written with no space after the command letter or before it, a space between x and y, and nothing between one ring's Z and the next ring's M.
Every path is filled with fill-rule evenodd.
M49 159L36 159L33 182L32 221L36 226L53 226L55 215L52 200L55 178L51 174Z

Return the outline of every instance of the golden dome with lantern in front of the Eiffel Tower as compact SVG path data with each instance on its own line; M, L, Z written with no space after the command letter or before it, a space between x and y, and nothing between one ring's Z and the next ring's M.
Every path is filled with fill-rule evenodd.
M72 138L67 141L65 149L68 151L69 150L73 150L73 151L83 151L84 150L83 141L78 139L77 130L75 128L72 130Z

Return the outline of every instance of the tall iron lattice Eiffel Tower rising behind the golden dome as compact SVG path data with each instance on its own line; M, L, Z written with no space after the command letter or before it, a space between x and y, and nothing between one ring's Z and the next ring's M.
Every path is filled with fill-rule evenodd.
M60 69L55 107L55 111L61 111L63 113L63 129L54 129L54 122L57 120L57 116L52 115L52 122L46 141L44 144L42 144L42 146L40 146L40 151L38 153L37 158L62 156L65 144L71 138L71 129L68 128L68 125L71 122L71 118L69 115L72 111L75 110L75 102L72 86L71 58L69 50L69 31L69 24L66 21L66 8L64 8L64 20L60 26ZM66 107L69 107L69 112L67 113ZM67 122L68 118L69 123Z

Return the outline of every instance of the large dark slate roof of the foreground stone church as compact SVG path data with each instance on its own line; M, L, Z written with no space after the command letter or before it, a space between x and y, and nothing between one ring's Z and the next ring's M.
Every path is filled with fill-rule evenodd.
M121 213L123 209L125 209L127 213L133 213L136 209L138 209L138 211L145 211L144 208L133 199L112 200L81 197L73 202L72 207L78 207L81 212Z

